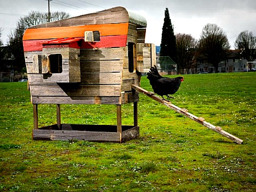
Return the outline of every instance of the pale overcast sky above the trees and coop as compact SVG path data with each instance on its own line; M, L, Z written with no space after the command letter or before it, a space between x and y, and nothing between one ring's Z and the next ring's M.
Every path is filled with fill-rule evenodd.
M51 11L64 11L71 16L88 14L122 6L147 20L146 42L160 46L165 8L168 8L174 32L200 38L203 27L216 24L226 33L231 49L238 34L244 30L256 36L255 0L52 0ZM6 45L8 35L20 17L31 11L48 12L48 0L0 0L1 39Z

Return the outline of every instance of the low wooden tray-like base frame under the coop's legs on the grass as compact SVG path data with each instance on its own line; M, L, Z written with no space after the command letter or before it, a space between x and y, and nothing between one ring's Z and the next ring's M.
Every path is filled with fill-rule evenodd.
M122 132L117 132L117 125L57 124L33 130L34 140L84 140L122 143L139 136L139 126L122 125Z

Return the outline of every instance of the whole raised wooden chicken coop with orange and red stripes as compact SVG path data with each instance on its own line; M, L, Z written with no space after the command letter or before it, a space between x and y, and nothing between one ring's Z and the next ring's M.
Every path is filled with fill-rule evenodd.
M115 7L28 28L24 55L33 104L34 140L124 142L139 136L141 73L156 63L145 44L146 19ZM121 105L134 103L134 124L122 125ZM38 127L38 104L56 104L56 124ZM114 104L116 125L62 124L61 104Z

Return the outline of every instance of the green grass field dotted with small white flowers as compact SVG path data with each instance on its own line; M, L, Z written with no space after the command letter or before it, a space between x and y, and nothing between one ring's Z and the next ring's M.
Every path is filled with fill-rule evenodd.
M140 137L125 143L32 140L26 82L0 83L0 191L256 191L256 73L184 75L172 102L236 144L140 94ZM146 77L141 87L152 91ZM38 105L39 127L56 106ZM115 105L62 105L62 123L116 124ZM133 106L122 105L133 124Z

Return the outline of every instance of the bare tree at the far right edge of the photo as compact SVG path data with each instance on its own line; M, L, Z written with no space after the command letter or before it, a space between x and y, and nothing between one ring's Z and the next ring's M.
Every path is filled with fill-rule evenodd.
M247 61L254 61L256 58L256 37L252 32L242 31L234 43L237 49L241 50L241 55ZM251 70L251 65L250 65Z

